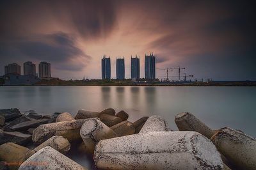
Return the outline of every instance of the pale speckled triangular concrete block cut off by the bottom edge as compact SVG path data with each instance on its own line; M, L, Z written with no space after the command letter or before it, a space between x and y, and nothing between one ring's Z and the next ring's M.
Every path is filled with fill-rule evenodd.
M86 169L50 146L29 157L19 170L27 169Z

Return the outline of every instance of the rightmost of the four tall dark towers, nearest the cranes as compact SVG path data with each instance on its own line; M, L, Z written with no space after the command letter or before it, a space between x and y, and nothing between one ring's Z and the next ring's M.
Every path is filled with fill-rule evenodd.
M145 79L156 79L156 57L151 53L149 56L145 54Z

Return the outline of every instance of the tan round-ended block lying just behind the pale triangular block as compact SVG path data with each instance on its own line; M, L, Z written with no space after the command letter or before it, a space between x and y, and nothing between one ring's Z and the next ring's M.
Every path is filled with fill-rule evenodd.
M70 150L70 143L65 137L54 135L48 140L46 140L44 143L37 146L35 149L28 151L26 153L26 158L31 157L37 151L41 150L42 148L45 148L46 146L51 146L54 150L60 151L60 153L67 153L67 151Z

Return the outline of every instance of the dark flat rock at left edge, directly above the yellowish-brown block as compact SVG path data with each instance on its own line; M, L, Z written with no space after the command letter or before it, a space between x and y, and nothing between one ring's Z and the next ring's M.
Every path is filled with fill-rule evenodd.
M3 143L17 143L17 144L27 144L31 141L31 135L22 134L20 132L4 132L0 130L0 144Z

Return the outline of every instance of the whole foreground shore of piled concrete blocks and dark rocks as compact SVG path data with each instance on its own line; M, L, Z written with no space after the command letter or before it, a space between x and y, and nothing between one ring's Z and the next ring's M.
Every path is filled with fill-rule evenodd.
M90 169L256 169L256 139L214 130L189 112L129 121L125 111L79 110L43 116L0 109L0 169L88 169L70 157L93 157Z

